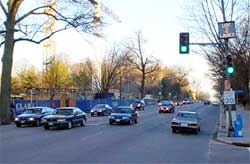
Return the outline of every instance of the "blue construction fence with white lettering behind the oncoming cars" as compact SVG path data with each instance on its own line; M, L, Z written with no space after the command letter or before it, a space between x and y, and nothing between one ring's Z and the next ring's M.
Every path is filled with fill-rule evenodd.
M93 108L97 104L109 104L111 107L116 106L129 106L133 103L132 99L98 99L98 100L75 100L75 106L79 107L85 112L89 112L91 108ZM157 104L157 99L144 99L145 105L155 105ZM14 105L16 108L17 115L22 113L25 108L31 106L47 106L50 107L53 105L54 108L58 108L61 106L61 100L33 100L32 103L30 100L14 100Z

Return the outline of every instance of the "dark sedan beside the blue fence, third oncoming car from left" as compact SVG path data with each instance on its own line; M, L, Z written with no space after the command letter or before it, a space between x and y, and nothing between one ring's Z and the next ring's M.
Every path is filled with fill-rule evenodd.
M107 116L112 113L112 107L108 104L97 104L90 110L91 116Z

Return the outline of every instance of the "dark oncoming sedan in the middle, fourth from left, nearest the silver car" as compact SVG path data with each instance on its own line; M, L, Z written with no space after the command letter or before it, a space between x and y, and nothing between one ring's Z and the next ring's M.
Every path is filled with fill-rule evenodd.
M109 124L129 124L137 123L138 113L129 106L118 106L109 116Z

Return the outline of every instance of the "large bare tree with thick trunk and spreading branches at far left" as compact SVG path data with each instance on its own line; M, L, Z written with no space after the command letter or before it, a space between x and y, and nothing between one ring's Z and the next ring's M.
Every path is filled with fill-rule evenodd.
M94 20L90 5L87 0L55 0L52 4L44 4L44 0L0 1L2 11L0 46L4 45L0 95L1 124L9 123L11 71L15 43L28 41L39 44L55 33L71 27L85 32L90 31ZM52 19L58 22L58 26L44 36L43 25Z

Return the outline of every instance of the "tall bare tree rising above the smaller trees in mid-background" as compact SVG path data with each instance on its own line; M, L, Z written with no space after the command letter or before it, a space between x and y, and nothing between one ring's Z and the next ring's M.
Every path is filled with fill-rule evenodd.
M128 60L133 68L141 74L140 80L140 97L145 96L145 81L149 74L153 74L160 69L159 61L152 55L148 55L143 48L145 44L142 32L137 31L136 37L125 43L125 47L129 51Z

